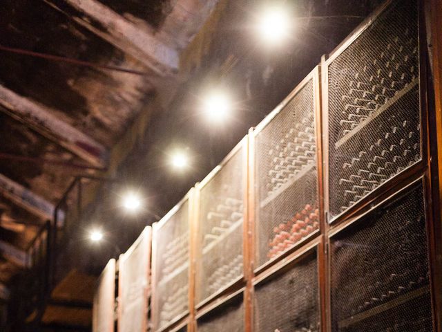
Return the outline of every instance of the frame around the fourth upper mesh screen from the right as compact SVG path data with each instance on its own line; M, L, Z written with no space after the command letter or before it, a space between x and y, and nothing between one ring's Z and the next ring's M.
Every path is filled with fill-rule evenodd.
M189 317L192 317L193 315L193 280L194 277L192 275L193 269L192 269L192 263L191 263L191 255L193 251L193 235L192 235L192 229L193 229L193 201L194 201L194 188L192 188L185 196L184 198L177 203L160 221L157 223L153 223L153 240L152 240L152 292L151 292L151 316L153 321L153 331L172 331L175 329L176 326L183 324L186 320L189 320ZM188 291L188 310L182 315L179 315L175 317L169 324L166 326L161 326L160 329L156 329L155 327L158 326L159 322L156 321L156 311L157 311L157 288L156 288L156 278L158 273L160 273L157 270L157 233L160 232L162 227L166 225L173 216L184 206L185 203L188 203L188 229L189 229L189 262L188 262L188 277L189 277L189 291Z

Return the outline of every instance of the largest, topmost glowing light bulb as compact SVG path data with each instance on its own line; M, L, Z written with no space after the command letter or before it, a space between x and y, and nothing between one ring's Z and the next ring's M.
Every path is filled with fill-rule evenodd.
M260 37L271 44L278 44L289 35L287 12L282 8L267 8L258 21Z

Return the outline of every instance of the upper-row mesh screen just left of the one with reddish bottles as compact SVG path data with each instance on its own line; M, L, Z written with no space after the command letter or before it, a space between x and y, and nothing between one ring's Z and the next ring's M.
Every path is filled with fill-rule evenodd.
M244 172L242 148L200 192L198 302L242 275Z

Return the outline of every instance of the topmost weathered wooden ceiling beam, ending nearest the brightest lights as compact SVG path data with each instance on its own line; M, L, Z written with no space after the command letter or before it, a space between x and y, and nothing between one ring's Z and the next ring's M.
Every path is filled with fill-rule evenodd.
M180 57L175 48L157 39L146 27L137 26L99 1L44 1L106 42L151 68L157 75L166 76L177 72Z

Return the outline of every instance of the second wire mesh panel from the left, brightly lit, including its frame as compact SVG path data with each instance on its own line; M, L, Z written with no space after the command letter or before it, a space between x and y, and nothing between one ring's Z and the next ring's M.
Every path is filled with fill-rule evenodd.
M151 227L119 258L118 331L145 332L151 273Z

